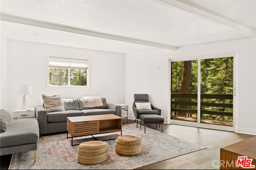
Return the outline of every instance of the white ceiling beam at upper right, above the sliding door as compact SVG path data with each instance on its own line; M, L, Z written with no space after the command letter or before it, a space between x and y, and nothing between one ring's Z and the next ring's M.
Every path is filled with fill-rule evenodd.
M224 24L226 26L230 26L231 28L234 28L235 30L238 30L249 37L255 37L256 32L250 28L247 28L245 26L242 26L240 24L237 24L236 22L233 22L231 20L228 20L226 18L223 18L222 16L218 16L218 14L210 13L206 10L196 8L193 6L190 6L188 4L185 4L183 2L180 2L178 0L150 0L152 2L156 2L158 4L162 4L167 7L176 7L181 10L185 10L187 12L190 12L192 14L196 14L197 16L218 22L220 24Z

